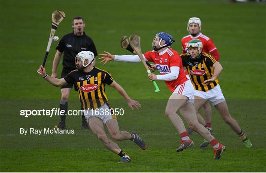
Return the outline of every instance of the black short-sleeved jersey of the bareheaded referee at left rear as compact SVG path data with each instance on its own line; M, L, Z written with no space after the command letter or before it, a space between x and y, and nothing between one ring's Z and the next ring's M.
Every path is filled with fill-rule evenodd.
M80 36L74 35L74 33L64 35L56 49L59 52L64 52L63 68L69 69L76 69L75 57L81 51L91 51L95 56L98 55L92 38L87 36L85 32Z

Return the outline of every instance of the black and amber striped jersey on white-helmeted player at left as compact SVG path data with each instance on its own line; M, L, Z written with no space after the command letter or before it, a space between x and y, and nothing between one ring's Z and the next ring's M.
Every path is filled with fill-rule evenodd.
M73 70L64 77L67 83L74 83L78 88L80 104L84 109L96 109L107 104L105 84L114 81L111 74L105 70L94 67L90 72Z

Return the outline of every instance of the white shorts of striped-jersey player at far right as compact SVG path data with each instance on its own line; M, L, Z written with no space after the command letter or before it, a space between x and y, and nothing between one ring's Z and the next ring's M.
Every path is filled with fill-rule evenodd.
M225 102L225 97L222 93L220 85L216 85L213 89L206 92L195 90L195 96L199 96L206 101L210 101L212 105L220 104Z

